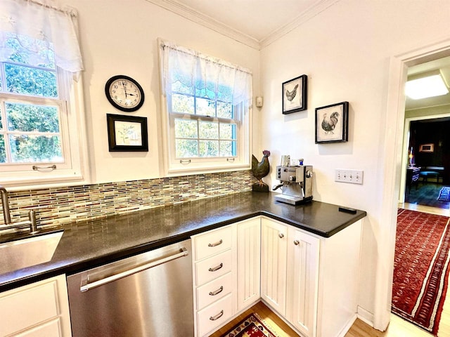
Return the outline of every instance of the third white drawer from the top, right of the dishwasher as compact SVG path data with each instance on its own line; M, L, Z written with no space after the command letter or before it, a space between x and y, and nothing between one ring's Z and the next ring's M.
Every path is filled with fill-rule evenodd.
M201 310L207 305L219 300L231 293L233 290L233 279L231 272L213 281L203 284L197 288L197 309Z

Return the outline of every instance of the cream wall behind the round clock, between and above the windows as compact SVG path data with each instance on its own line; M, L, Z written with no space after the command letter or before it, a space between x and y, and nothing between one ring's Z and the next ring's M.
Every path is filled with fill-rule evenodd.
M63 1L79 13L92 183L160 177L158 37L249 68L254 93L259 93L259 51L253 48L146 0ZM108 151L106 114L127 114L105 97L105 82L117 74L132 77L143 87L145 102L130 115L148 118L148 152Z

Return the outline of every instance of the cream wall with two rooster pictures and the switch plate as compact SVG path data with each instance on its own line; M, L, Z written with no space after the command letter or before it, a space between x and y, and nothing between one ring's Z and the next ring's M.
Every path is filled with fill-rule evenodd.
M314 166L314 199L368 213L359 300L368 314L374 312L375 265L383 249L378 233L389 225L380 220L380 160L390 58L449 39L449 14L449 1L341 0L261 52L261 146L271 150L271 162L278 164L281 154L303 157ZM308 110L283 115L281 84L301 74L308 75ZM349 142L314 144L314 109L345 100ZM364 184L336 183L335 169L364 170ZM270 177L278 182L274 169Z

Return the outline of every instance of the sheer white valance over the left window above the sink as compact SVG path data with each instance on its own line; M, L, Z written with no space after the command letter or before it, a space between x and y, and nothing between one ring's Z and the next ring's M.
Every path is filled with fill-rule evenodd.
M44 41L37 44L21 43L21 46L43 58L48 55L47 51L52 51L56 65L68 72L78 74L83 70L77 38L77 12L73 8L61 8L53 0L1 0L1 61L8 60L10 56L7 41L11 35L19 42L21 36ZM34 65L41 62L43 60L36 58Z

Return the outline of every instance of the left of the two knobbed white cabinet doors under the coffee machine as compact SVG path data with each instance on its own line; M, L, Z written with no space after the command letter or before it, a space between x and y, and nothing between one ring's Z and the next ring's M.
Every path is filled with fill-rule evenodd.
M261 220L261 297L279 314L286 313L288 225Z

